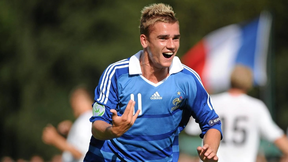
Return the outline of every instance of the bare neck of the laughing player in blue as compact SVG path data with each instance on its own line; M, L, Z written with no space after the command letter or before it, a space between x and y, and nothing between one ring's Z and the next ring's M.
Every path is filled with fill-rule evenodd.
M140 67L142 76L155 84L169 76L169 67L156 67L145 50L140 56Z

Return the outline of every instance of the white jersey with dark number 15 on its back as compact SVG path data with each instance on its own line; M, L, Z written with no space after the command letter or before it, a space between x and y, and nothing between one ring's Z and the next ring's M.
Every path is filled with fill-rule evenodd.
M261 137L274 142L284 134L259 99L228 92L211 95L211 99L222 123L223 139L217 152L219 162L255 162ZM195 131L194 123L187 127L186 133Z

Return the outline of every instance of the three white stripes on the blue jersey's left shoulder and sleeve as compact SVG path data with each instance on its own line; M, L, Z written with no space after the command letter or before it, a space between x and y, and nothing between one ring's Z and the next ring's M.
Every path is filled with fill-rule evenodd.
M111 86L111 78L115 74L116 69L121 69L129 66L129 60L124 59L109 65L103 74L101 85L100 85L100 95L97 101L106 104L109 96L109 89Z

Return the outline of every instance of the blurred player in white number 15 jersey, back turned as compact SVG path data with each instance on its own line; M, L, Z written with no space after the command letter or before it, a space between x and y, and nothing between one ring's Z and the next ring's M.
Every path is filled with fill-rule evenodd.
M236 65L231 74L230 90L211 95L223 131L223 139L217 152L219 162L252 162L256 159L265 162L263 155L257 157L260 137L273 142L282 151L283 160L287 161L288 139L284 131L273 122L266 105L246 94L252 85L251 69ZM192 124L189 123L185 129L188 134L195 131L189 129L194 125L193 121L190 122Z

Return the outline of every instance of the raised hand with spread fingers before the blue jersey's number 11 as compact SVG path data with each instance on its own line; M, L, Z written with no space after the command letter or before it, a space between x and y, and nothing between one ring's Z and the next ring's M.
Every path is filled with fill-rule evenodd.
M113 132L113 134L116 135L116 137L120 137L121 135L123 135L134 124L140 112L140 110L137 110L137 112L133 116L134 106L135 101L130 100L122 116L118 116L116 110L114 109L110 110L110 112L112 113L112 123L113 123L111 131Z

